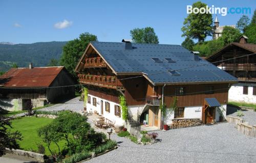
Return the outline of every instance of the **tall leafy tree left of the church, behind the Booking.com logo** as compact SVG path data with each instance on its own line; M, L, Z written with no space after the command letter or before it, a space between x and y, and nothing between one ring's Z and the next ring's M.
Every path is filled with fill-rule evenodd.
M206 4L201 2L196 2L193 5L193 8L205 8ZM193 39L198 39L198 41L204 41L207 36L211 36L212 33L212 16L211 14L189 14L184 22L181 31L183 34L182 37L188 37Z

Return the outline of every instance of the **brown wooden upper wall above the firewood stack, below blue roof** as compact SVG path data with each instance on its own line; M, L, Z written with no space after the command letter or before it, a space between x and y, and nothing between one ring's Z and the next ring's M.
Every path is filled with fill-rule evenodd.
M208 86L214 86L214 94L205 94L205 87L208 84L199 85L177 85L177 86L165 86L164 88L164 102L167 107L173 102L173 96L175 95L176 87L185 87L185 94L183 96L177 96L178 107L188 107L188 106L202 106L205 98L216 98L221 104L226 104L228 102L228 84L209 84ZM194 94L194 92L202 92ZM169 97L166 97L169 96Z

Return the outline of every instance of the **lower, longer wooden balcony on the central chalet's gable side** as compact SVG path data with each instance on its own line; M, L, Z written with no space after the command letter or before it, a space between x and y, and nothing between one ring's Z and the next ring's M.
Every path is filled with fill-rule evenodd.
M100 76L100 75L78 75L79 82L90 85L97 85L106 88L121 89L124 87L119 79L114 76Z

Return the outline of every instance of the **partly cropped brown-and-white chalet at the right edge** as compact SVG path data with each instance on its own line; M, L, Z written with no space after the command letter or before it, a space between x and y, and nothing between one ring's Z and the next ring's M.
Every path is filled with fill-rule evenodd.
M256 53L256 44L247 43L247 37L242 36L240 42L232 42L215 54L206 58L216 62ZM256 55L214 63L219 68L239 79L229 89L228 100L256 104Z

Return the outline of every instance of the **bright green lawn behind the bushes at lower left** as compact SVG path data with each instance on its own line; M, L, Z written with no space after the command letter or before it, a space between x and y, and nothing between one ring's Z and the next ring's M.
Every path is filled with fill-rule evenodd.
M24 150L37 150L37 144L42 143L41 138L37 135L37 130L45 126L49 123L51 123L53 119L48 118L36 118L36 117L23 117L18 118L12 121L12 130L18 130L22 133L23 140L19 141L18 144L21 149ZM65 141L60 141L59 146L60 150L63 149L65 146ZM44 144L44 143L42 143ZM47 148L47 145L45 145L46 148L46 155L50 155L50 151ZM51 144L51 150L57 152L58 147L55 144Z

